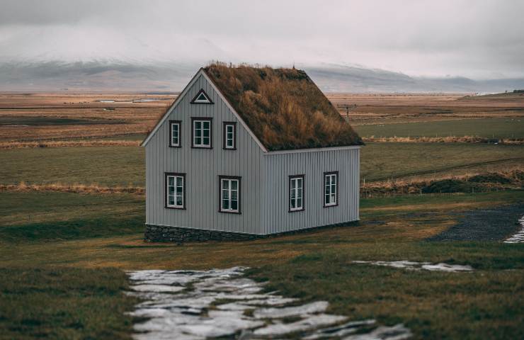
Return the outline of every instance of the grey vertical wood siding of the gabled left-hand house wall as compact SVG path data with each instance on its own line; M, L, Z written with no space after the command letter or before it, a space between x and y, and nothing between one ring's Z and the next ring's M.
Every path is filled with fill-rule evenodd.
M204 89L215 103L191 104ZM212 149L191 148L191 117L212 117ZM181 147L168 145L169 120L181 120ZM237 122L237 150L222 149L222 122ZM203 76L146 145L146 222L228 232L261 234L264 158L249 132L238 122ZM164 208L164 173L186 174L186 210ZM241 214L218 212L218 176L241 176Z

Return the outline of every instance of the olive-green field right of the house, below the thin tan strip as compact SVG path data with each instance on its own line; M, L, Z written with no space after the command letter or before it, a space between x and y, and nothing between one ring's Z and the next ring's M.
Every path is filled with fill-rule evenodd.
M369 142L361 150L360 177L366 181L494 171L524 164L522 145Z

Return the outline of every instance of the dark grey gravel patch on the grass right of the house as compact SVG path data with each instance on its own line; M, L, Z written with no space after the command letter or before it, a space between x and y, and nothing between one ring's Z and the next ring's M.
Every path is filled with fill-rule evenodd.
M464 217L457 225L428 241L502 241L519 231L523 214L524 203L461 212Z

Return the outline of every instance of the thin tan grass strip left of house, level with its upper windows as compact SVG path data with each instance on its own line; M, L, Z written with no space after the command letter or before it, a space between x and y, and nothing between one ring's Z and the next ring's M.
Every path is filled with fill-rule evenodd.
M134 147L139 140L50 140L41 142L0 142L0 149L21 149L25 147Z

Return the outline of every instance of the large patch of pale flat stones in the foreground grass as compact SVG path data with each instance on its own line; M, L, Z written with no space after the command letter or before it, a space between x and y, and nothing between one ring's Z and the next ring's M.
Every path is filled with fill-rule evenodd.
M246 268L210 271L130 271L132 291L142 299L130 314L134 339L349 339L401 340L403 324L385 327L375 320L349 321L326 313L329 303L301 304L263 283L244 277Z

